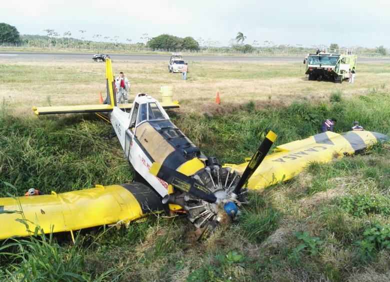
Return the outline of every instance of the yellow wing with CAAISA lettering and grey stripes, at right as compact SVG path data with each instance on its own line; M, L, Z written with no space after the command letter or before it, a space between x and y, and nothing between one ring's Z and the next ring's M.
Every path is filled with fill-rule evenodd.
M266 156L248 180L249 189L262 189L277 182L291 179L311 162L329 162L345 155L354 154L388 140L388 136L370 131L348 131L341 134L325 132L306 139L277 146L274 153ZM248 163L225 164L240 175Z

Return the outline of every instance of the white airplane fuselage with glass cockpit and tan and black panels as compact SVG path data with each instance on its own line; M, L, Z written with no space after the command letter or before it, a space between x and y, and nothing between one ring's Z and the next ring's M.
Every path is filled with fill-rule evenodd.
M110 121L136 176L142 177L161 197L171 193L172 187L149 173L153 162L187 176L204 168L204 163L198 159L204 157L199 148L170 121L158 101L150 96L138 95L130 113L114 107Z

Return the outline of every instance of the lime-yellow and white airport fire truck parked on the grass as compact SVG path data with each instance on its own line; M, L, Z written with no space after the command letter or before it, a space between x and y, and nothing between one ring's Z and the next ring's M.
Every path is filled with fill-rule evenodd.
M355 69L357 55L353 49L334 49L333 51L318 48L315 53L309 53L304 59L308 80L322 80L341 83L349 78L349 70Z

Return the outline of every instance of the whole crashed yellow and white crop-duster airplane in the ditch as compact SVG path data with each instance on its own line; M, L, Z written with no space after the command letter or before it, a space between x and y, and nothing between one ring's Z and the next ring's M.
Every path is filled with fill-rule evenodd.
M312 161L364 150L387 136L369 132L321 133L277 146L266 156L276 135L269 132L249 162L221 166L206 157L169 119L164 107L139 93L130 112L116 105L111 62L106 60L107 105L38 107L35 114L107 113L134 182L67 193L0 199L0 239L43 232L73 232L89 227L128 223L149 213L185 211L206 239L225 215L235 219L246 204L248 189L284 181ZM261 165L260 165L261 163ZM40 232L40 229L37 230ZM72 233L73 234L73 233Z

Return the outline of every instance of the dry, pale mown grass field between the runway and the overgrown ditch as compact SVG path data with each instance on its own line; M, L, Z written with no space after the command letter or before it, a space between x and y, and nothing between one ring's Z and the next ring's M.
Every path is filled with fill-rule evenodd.
M5 98L18 113L31 106L93 104L105 90L105 65L80 61L0 61L0 99ZM255 108L263 104L286 105L305 100L320 103L333 92L343 97L367 94L388 87L390 66L386 63L358 64L356 83L350 85L307 81L302 62L210 62L189 61L186 81L167 71L167 63L113 61L115 74L123 71L132 86L129 96L148 93L160 97L161 86L173 86L180 111L227 110L248 101ZM214 104L219 92L221 105ZM227 109L225 109L227 108Z

